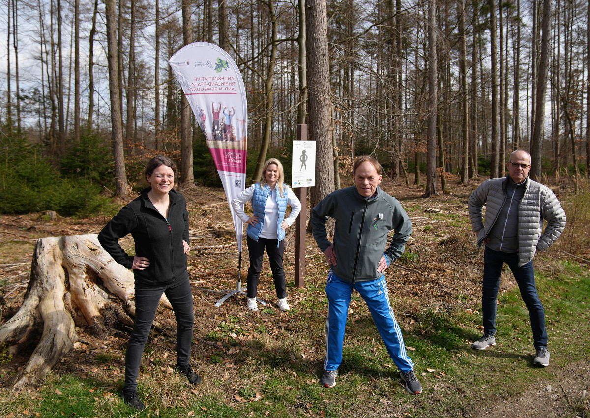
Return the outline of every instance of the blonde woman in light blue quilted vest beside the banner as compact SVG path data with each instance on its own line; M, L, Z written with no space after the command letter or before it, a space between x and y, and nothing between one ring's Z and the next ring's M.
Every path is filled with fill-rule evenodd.
M250 254L246 292L248 309L258 311L256 290L266 248L270 269L273 272L274 287L277 291L278 309L289 311L283 271L285 230L299 215L301 203L289 186L283 184L283 165L278 159L271 158L264 163L263 173L259 183L251 185L231 201L234 212L248 224L246 229L246 243ZM244 213L244 203L248 200L251 201L254 212L250 217ZM291 206L291 213L288 218L285 218L287 205Z

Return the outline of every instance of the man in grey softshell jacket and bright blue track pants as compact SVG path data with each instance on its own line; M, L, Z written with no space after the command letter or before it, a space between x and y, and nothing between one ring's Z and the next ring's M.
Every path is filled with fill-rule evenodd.
M350 295L355 289L371 311L406 390L419 394L422 385L405 350L384 274L389 264L404 252L412 223L402 205L379 188L381 171L381 164L375 158L360 156L352 168L355 185L330 193L312 210L313 237L330 265L326 283L326 357L320 384L326 387L336 384ZM331 243L326 231L328 217L336 221ZM387 247L392 230L395 232Z

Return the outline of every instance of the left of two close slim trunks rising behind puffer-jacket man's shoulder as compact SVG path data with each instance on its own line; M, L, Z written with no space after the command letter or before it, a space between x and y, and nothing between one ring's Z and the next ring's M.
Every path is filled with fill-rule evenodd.
M496 0L489 0L490 5L490 47L491 47L491 158L490 177L498 177L499 157L499 105L498 105L498 53Z

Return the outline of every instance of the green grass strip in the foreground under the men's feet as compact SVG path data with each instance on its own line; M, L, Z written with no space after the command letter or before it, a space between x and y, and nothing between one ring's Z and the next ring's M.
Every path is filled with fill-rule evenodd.
M230 315L219 322L207 335L219 349L209 352L209 358L205 354L198 365L204 378L200 386L191 387L166 365L151 363L142 367L139 390L148 413L160 417L188 416L191 411L205 417L473 416L481 406L502 404L536 383L552 382L558 378L556 371L590 357L588 270L559 263L550 274L537 276L537 286L547 315L549 368L532 364L532 331L517 288L499 295L497 345L486 351L470 348L481 335L481 314L461 303L412 308L400 325L424 393L411 396L399 381L371 315L353 294L340 375L336 387L326 389L317 382L323 369L326 306L320 291L307 290L306 296L315 302L301 303L297 322L281 322L283 328L261 322L255 337L248 339L241 334L242 318ZM392 299L396 311L405 309L403 301L395 301L395 295ZM243 345L238 346L231 334L243 337ZM107 355L94 357L98 363L112 360ZM51 374L37 392L0 396L0 416L26 410L47 417L127 417L132 410L120 400L122 376L117 379ZM572 397L569 409L588 416L588 401Z

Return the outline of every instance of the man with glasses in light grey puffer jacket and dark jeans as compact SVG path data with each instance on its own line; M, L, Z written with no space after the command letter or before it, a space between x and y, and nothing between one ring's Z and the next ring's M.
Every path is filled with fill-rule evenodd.
M549 365L545 311L535 286L533 257L537 250L548 249L563 232L565 212L548 187L529 178L530 155L526 151L510 154L507 166L509 175L484 181L468 202L477 244L486 246L481 290L484 335L472 347L485 350L496 345L496 298L500 273L506 263L529 310L537 351L533 363L545 367ZM544 220L547 221L545 230Z

